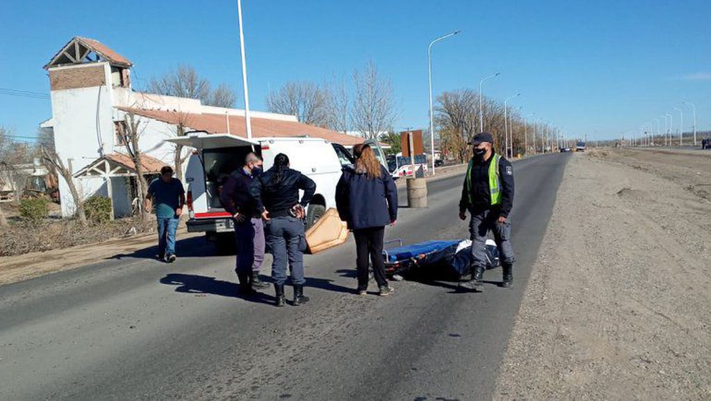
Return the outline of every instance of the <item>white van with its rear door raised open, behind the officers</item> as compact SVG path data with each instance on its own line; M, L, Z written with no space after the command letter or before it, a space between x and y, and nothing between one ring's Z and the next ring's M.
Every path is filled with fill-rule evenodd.
M231 134L196 132L166 141L195 149L185 173L187 227L188 232L205 232L208 240L219 240L221 234L234 231L232 216L220 204L220 190L230 173L242 167L250 151L262 156L264 170L272 167L274 156L286 154L292 169L316 182L316 194L306 208L306 227L316 223L326 209L336 207L336 184L341 178L341 168L353 163L348 149L319 138L250 140ZM231 235L223 238L230 240Z

